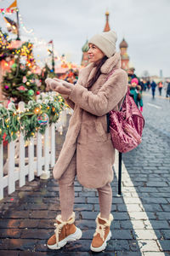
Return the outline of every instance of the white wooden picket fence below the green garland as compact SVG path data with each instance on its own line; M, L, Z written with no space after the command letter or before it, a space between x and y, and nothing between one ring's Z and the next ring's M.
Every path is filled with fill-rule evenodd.
M8 194L15 191L16 181L19 181L19 186L22 187L26 184L26 177L31 182L35 176L42 179L50 176L49 168L55 163L55 130L62 131L62 127L66 124L67 113L69 110L63 110L56 124L48 125L44 135L37 132L29 143L24 141L20 133L18 139L8 143L5 163L3 163L3 144L0 145L0 200L3 199L4 188L8 187ZM26 157L26 149L28 157Z

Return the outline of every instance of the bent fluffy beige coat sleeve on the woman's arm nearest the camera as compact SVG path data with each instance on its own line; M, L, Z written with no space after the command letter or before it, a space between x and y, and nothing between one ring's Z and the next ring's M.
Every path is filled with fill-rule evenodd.
M94 95L93 92L77 83L69 98L89 113L102 116L115 108L126 92L127 73L121 70L113 73L97 94Z

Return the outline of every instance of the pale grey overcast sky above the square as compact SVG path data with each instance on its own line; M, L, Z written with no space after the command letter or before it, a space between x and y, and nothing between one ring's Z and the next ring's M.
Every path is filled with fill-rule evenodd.
M0 8L10 3L13 0L0 0ZM55 51L78 64L86 39L103 31L108 10L111 29L118 36L117 50L124 37L136 73L148 70L159 75L162 69L170 77L170 0L18 0L18 6L34 36L47 43L53 39ZM0 22L4 27L2 17ZM25 39L23 30L21 35ZM39 47L39 55L44 55L44 48Z

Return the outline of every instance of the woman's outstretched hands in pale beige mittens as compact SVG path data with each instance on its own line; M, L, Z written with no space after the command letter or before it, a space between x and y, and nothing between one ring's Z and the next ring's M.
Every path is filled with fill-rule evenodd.
M67 83L61 79L46 79L47 90L55 90L60 94L70 95L74 85Z

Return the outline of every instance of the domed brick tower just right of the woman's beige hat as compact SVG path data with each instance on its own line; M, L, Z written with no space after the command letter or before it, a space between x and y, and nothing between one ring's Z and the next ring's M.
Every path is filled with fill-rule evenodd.
M126 70L129 68L128 65L129 65L129 56L127 55L127 47L128 47L128 44L127 42L125 41L125 39L123 38L122 39L122 42L121 44L119 44L119 47L121 49L121 67L122 69Z

